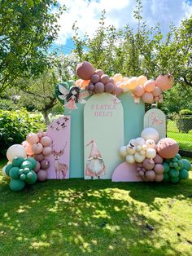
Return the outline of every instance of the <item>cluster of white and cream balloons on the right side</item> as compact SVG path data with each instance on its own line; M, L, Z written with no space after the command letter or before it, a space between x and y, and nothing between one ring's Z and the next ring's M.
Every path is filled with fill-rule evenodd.
M142 131L141 137L131 139L128 145L120 148L120 156L126 157L129 164L142 163L144 159L156 156L155 142L159 139L157 130L149 127Z

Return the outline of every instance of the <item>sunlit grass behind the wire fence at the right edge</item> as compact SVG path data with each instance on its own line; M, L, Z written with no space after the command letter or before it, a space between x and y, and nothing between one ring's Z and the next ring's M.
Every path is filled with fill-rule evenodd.
M167 135L179 143L180 149L192 151L192 130L188 134L181 133L177 129L176 121L168 120Z

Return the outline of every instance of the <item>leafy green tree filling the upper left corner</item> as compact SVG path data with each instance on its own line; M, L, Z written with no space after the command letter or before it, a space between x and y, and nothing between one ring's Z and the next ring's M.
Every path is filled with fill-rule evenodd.
M16 78L46 68L46 50L57 38L62 11L55 0L0 0L0 95Z

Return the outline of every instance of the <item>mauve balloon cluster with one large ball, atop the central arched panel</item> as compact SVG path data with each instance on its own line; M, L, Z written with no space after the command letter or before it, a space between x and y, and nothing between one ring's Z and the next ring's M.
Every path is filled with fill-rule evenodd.
M87 61L76 66L76 74L81 78L76 81L76 86L81 86L92 94L108 92L120 95L122 92L113 77L109 77L102 69L95 70L94 66Z

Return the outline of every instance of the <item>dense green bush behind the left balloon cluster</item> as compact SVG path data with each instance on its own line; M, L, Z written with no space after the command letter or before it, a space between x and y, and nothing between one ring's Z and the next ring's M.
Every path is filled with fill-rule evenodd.
M28 113L26 110L0 110L0 154L6 155L12 144L22 143L29 132L45 130L41 115Z

